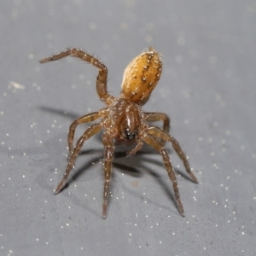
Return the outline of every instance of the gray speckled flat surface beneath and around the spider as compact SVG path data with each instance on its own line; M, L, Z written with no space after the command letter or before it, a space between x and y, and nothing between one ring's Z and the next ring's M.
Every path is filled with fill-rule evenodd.
M0 254L255 255L255 16L246 0L2 1ZM170 114L200 184L168 145L182 218L158 154L145 147L118 157L103 220L100 137L85 143L69 186L53 195L68 126L103 106L96 69L38 60L86 49L108 65L118 96L125 66L150 45L164 71L144 109Z

